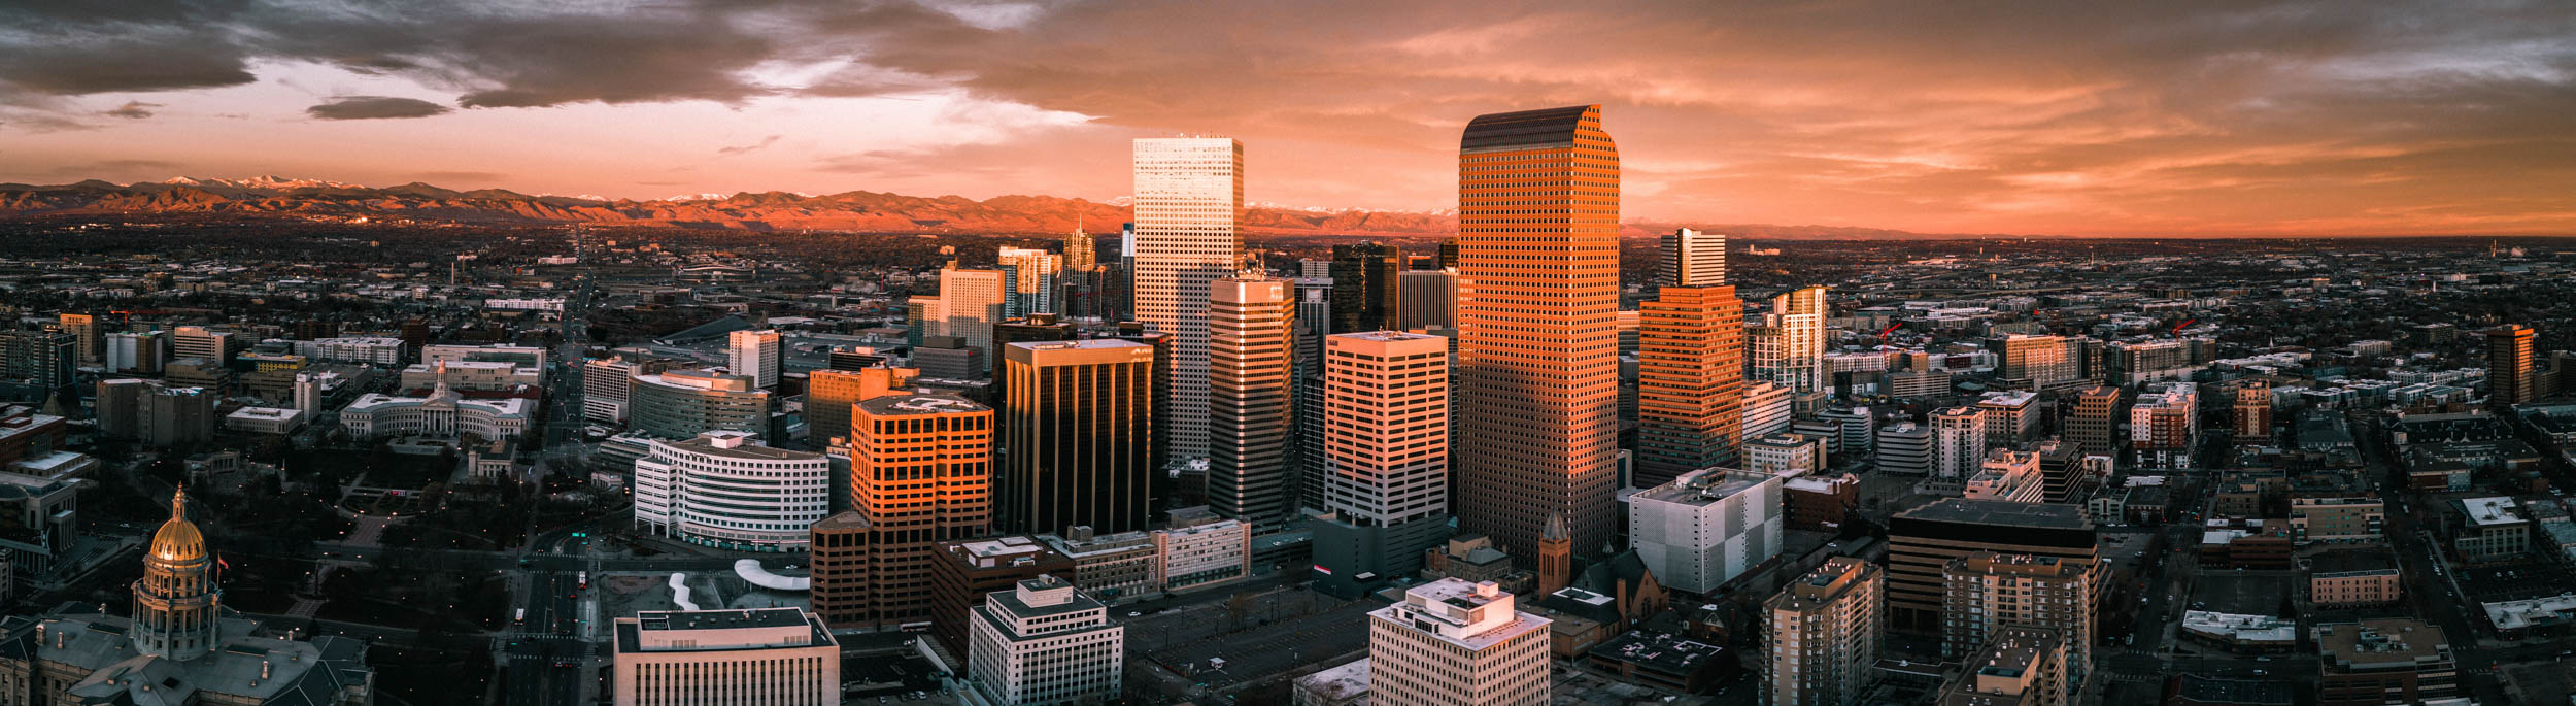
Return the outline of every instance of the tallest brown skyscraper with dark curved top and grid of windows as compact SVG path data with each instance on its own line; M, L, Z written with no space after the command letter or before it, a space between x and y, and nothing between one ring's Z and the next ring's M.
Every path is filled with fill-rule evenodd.
M1600 106L1492 113L1458 139L1458 518L1538 557L1618 520L1618 147ZM1528 559L1522 559L1528 562Z

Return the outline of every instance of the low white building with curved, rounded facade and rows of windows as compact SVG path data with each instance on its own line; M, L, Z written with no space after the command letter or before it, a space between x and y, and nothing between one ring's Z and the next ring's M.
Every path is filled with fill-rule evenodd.
M711 430L654 441L636 461L636 528L737 551L804 551L806 528L832 513L832 464L752 438Z

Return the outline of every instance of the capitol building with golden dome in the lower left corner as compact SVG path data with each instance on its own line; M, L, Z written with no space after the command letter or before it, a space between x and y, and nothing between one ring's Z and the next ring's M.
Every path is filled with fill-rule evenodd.
M180 490L134 580L131 616L57 608L0 621L0 703L374 701L366 642L265 636L258 621L224 608L214 567Z

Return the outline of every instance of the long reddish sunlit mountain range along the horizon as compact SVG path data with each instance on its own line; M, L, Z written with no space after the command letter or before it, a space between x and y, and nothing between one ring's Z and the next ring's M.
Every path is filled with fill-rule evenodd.
M600 198L531 196L502 188L453 191L428 183L355 186L289 178L173 178L144 183L82 180L62 186L0 183L0 219L88 216L88 214L201 214L201 216L278 216L327 222L459 222L459 224L603 224L603 227L690 227L742 232L958 232L958 234L1056 234L1084 224L1115 232L1128 219L1123 201L1056 196L902 196L876 191L845 193L734 193L683 198ZM1698 227L1749 240L1914 240L1914 237L2012 237L2012 234L1917 234L1862 227L1777 227L1777 224L1656 224L1631 222L1625 234L1646 237ZM1355 234L1355 237L1437 237L1453 234L1450 214L1406 211L1316 211L1255 206L1244 214L1252 234Z

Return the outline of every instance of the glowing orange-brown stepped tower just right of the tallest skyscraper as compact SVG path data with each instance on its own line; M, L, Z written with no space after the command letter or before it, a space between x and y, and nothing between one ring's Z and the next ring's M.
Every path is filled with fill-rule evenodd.
M1636 487L1734 466L1744 441L1744 299L1664 286L1638 304Z

